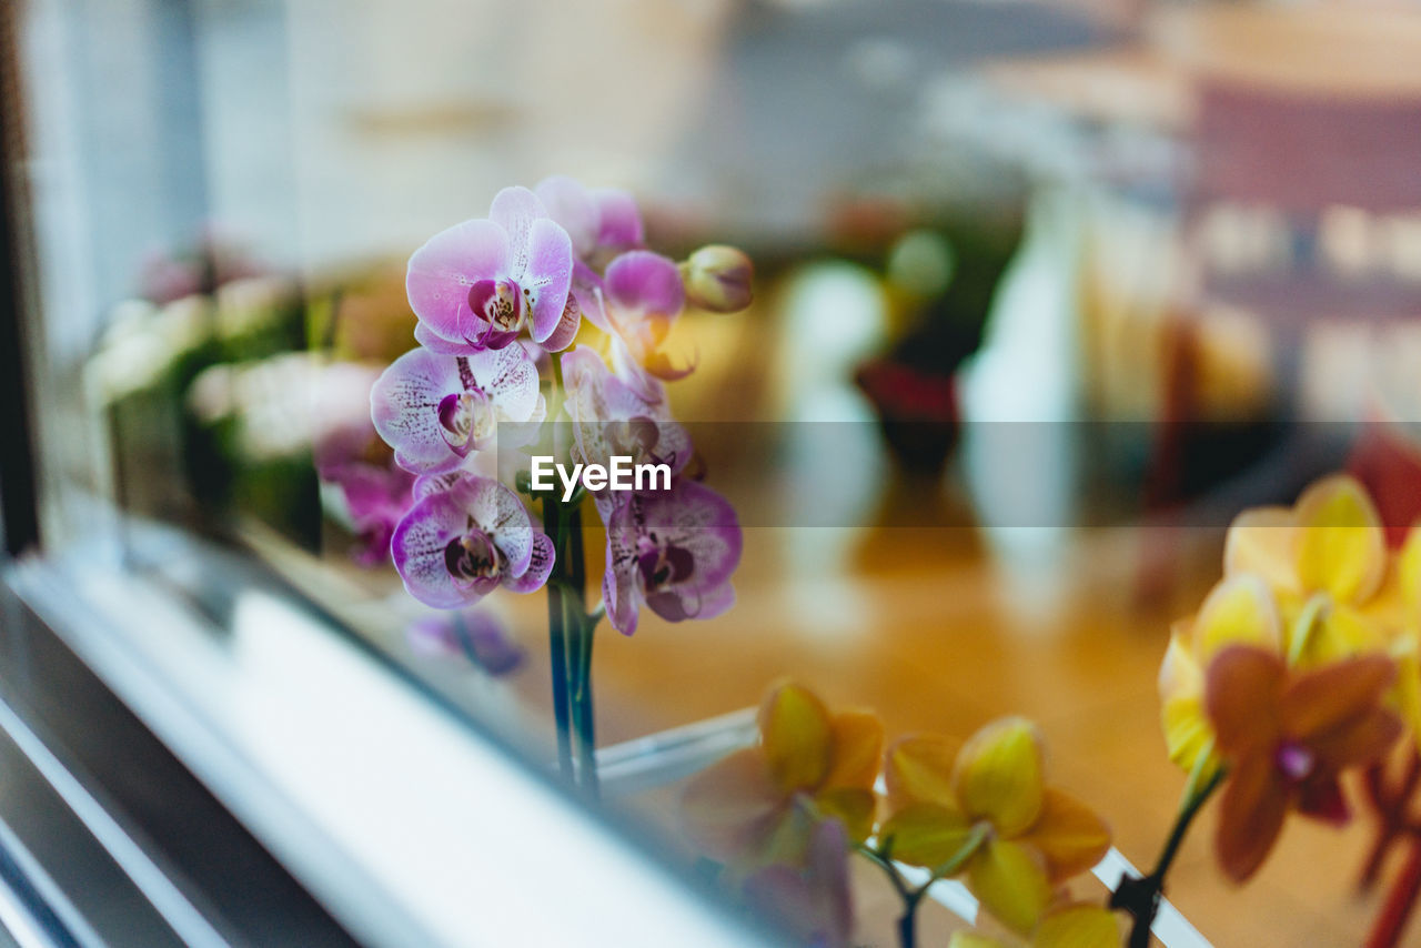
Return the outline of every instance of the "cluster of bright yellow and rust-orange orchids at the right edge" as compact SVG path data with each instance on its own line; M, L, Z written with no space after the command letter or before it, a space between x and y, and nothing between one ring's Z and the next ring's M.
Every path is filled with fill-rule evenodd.
M1421 532L1387 549L1371 499L1327 478L1242 513L1223 578L1175 624L1160 669L1169 756L1223 776L1215 849L1250 877L1290 810L1343 822L1339 777L1421 736Z

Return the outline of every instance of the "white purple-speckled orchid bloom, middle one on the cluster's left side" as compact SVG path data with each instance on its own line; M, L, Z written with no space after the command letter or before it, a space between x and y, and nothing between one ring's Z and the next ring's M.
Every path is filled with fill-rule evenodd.
M537 422L547 412L522 345L470 355L411 350L371 388L369 405L375 431L415 473L452 470L493 445L499 422Z

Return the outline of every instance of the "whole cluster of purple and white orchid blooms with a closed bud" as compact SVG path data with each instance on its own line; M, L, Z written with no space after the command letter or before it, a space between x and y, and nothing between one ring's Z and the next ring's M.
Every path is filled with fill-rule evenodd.
M685 473L692 445L665 382L692 364L669 352L668 334L688 304L743 308L749 280L749 260L730 247L681 264L645 249L627 193L563 176L506 188L486 217L419 247L406 273L419 348L369 398L379 436L418 478L391 529L405 588L462 608L549 580L560 551L509 486L510 460L526 458L517 449L540 443L583 463L627 455L675 475L669 489L594 493L617 630L635 631L642 607L669 621L725 611L740 529L730 505ZM570 436L544 425L558 419Z

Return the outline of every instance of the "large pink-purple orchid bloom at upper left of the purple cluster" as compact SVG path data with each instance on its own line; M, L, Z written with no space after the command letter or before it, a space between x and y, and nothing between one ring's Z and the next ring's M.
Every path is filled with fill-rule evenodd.
M524 325L544 348L567 348L581 323L571 281L567 232L531 190L504 188L487 217L415 250L405 289L419 317L415 338L436 352L470 355L509 345Z

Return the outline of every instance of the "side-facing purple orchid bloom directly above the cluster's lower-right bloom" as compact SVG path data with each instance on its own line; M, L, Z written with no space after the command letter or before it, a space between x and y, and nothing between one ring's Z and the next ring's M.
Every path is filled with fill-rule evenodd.
M573 421L573 460L607 466L620 455L634 465L664 463L672 475L681 473L691 460L691 435L672 419L665 402L638 395L585 345L566 352L561 361L564 405ZM594 492L604 522L622 496Z

